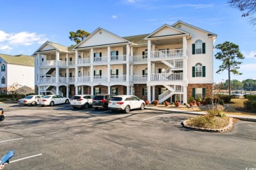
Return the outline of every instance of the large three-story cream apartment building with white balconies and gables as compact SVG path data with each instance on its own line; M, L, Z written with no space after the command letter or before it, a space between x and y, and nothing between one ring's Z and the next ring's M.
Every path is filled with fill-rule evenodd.
M187 102L211 95L217 35L184 22L119 37L98 28L76 46L45 42L35 56L38 93L133 94Z

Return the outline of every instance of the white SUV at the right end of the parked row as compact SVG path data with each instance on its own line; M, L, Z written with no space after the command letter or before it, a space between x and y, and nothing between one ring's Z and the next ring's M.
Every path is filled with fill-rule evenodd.
M131 109L143 110L144 108L145 101L135 95L116 95L108 102L108 109L112 111L123 110L127 113Z

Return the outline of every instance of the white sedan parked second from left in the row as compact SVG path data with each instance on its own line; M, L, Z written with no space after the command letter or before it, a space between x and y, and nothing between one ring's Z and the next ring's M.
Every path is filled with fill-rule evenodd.
M70 99L61 95L45 95L45 97L37 99L37 105L42 106L53 106L62 103L68 104L70 103Z

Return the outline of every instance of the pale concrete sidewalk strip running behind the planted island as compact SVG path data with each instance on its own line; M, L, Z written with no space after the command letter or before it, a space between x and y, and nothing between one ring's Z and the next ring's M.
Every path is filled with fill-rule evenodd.
M187 111L187 110L179 110L179 109L165 109L165 108L157 108L157 107L145 107L145 109L148 110L158 110L158 111L164 111L164 112L178 112L178 113L184 113L184 114L194 114L194 115L204 115L205 112L198 112L198 111ZM226 114L226 116L237 118L239 120L245 120L249 122L256 122L256 115L236 115L236 114Z

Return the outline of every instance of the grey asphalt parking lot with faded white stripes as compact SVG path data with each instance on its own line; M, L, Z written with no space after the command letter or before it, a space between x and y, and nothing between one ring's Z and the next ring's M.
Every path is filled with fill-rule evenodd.
M209 133L185 129L192 115L174 112L0 107L0 157L15 152L5 169L256 168L255 122Z

